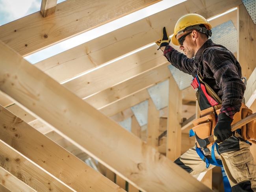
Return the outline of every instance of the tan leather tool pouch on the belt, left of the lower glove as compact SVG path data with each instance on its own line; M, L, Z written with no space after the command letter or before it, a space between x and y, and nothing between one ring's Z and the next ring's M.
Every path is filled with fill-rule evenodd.
M207 138L213 133L213 128L216 125L215 113L211 113L198 118L197 120L193 121L193 124L195 127L192 129L197 134L197 136L202 139ZM213 143L208 146L211 146L212 144ZM197 145L197 147L200 146Z

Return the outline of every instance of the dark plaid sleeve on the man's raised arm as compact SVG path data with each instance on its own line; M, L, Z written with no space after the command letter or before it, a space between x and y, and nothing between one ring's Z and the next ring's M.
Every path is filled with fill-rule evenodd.
M194 59L187 58L186 55L178 52L172 46L167 45L163 52L167 60L184 73L192 74Z

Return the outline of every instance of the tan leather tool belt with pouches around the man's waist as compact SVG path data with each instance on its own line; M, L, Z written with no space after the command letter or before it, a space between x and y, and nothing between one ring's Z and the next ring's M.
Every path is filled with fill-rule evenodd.
M204 139L213 135L213 129L216 126L216 116L219 114L220 110L221 104L200 111L200 118L193 121L195 127L192 128L199 138ZM252 110L242 103L240 111L234 114L231 125L250 114L252 114ZM245 140L256 140L256 120L241 127L241 135ZM210 147L212 144L213 142L207 147Z

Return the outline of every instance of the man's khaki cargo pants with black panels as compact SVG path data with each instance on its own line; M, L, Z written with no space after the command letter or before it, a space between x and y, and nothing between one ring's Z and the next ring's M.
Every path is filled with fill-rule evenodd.
M209 149L211 151L211 147ZM236 132L233 137L219 144L219 153L220 155L215 149L215 157L217 160L221 159L232 191L256 192L256 164L250 153L250 144L247 144ZM211 158L211 154L207 157ZM210 164L209 168L206 168L206 163L198 156L195 146L174 162L191 175L197 175L215 167Z

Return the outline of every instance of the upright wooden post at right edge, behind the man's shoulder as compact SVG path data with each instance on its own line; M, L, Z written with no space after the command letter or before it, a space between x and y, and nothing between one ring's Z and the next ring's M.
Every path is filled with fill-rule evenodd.
M238 32L238 61L242 67L242 76L249 79L256 67L256 25L250 18L245 6L238 7L239 32Z

